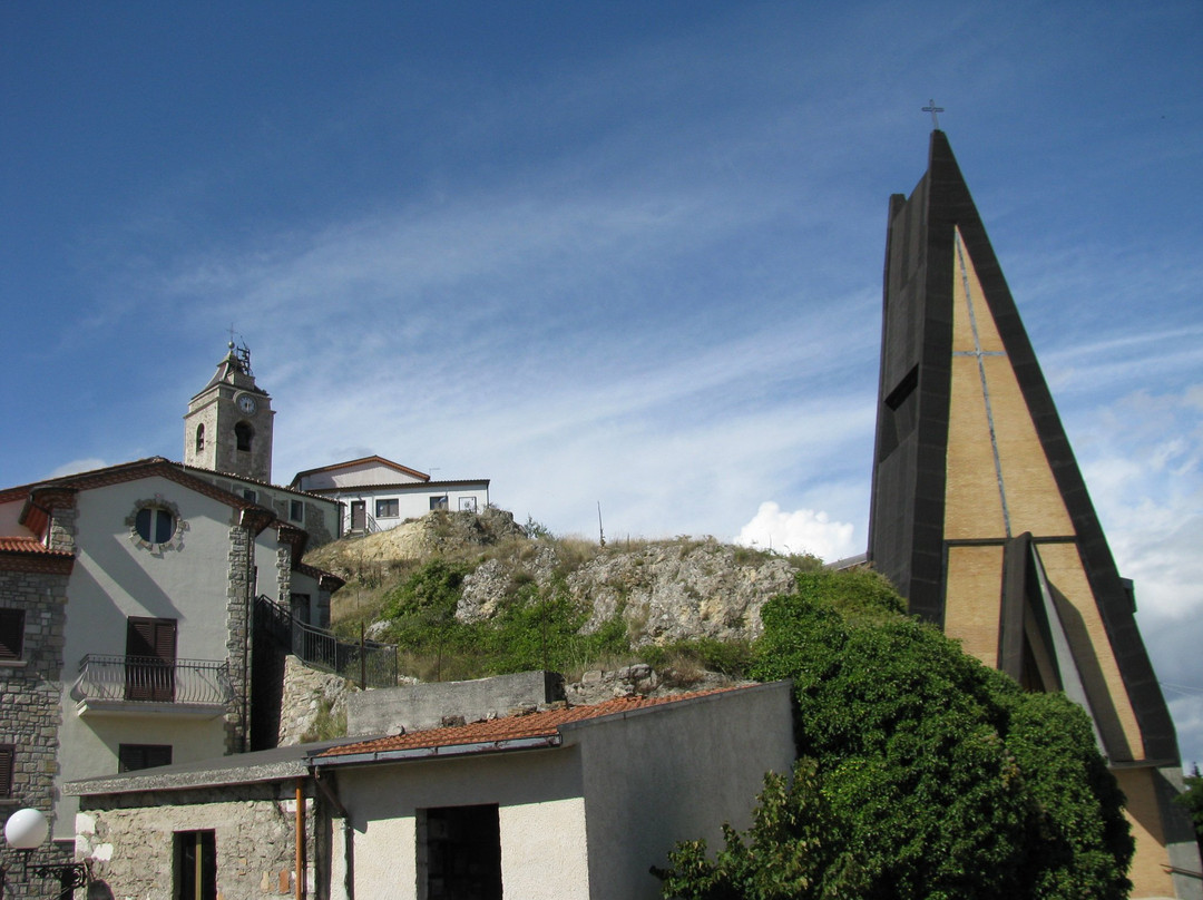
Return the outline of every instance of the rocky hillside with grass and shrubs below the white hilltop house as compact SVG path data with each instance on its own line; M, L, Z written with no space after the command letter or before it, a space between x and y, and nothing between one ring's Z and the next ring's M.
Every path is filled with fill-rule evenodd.
M678 677L743 673L765 602L819 561L713 538L600 546L556 538L509 513L435 511L319 547L334 572L336 630L401 647L402 670L455 680L648 662Z

